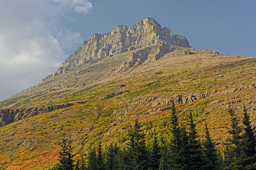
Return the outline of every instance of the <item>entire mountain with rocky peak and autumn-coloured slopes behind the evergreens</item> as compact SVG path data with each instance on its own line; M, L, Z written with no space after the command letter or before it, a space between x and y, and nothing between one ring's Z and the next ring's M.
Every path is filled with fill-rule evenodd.
M223 154L228 108L240 118L245 107L256 123L255 61L192 48L152 18L95 33L51 75L0 102L0 169L52 169L68 136L74 159L99 143L125 150L135 120L147 147L152 134L169 142L172 101L180 125L192 114L202 141L207 122Z

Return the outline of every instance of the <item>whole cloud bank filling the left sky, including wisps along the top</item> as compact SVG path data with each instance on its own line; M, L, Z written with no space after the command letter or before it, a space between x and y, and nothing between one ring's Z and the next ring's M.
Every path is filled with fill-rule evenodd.
M87 14L83 0L9 0L0 5L0 101L38 83L82 43L61 20Z

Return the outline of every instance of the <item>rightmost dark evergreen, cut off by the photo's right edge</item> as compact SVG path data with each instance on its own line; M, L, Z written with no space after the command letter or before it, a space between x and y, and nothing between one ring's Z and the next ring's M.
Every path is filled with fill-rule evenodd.
M255 128L251 126L250 117L245 107L243 107L242 124L244 127L242 134L241 163L245 169L256 169Z

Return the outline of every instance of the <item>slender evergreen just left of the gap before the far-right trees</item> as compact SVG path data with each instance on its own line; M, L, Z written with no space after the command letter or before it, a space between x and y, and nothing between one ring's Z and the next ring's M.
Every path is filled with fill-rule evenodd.
M205 141L203 142L203 154L205 158L204 169L220 169L220 161L215 143L210 138L209 129L205 122Z

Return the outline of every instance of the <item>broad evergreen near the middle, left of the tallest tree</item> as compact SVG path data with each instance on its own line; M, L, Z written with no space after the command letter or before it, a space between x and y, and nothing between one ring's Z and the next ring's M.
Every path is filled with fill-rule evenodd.
M140 130L141 126L135 121L133 129L131 129L130 141L127 143L127 156L129 159L129 169L148 169L148 151L146 148L144 134Z

